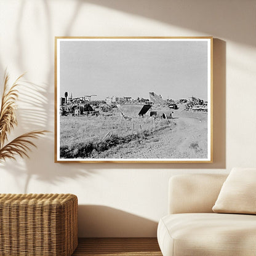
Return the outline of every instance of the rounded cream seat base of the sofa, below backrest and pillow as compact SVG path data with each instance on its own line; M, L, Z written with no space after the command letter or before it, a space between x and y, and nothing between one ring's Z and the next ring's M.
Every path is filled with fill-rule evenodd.
M256 255L256 216L170 214L158 225L164 256Z

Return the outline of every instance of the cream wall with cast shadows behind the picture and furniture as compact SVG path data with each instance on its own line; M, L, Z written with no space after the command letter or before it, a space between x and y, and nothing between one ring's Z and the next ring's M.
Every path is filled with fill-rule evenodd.
M156 236L169 177L255 167L255 11L254 0L1 0L0 77L7 67L31 82L14 135L52 133L0 166L0 192L76 194L79 236ZM214 36L214 163L55 164L54 36Z

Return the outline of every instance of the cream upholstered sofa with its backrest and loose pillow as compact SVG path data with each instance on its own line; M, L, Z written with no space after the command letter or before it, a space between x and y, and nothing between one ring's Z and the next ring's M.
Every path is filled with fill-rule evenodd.
M169 214L158 224L162 255L256 255L255 183L256 169L170 178Z

